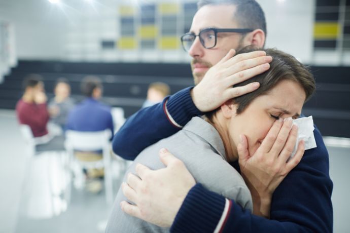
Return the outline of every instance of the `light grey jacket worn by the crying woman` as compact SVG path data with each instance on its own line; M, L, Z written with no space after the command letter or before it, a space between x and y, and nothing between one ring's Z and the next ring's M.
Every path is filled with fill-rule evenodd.
M226 162L224 144L218 131L211 124L199 117L193 118L183 130L144 149L128 168L126 174L135 173L137 163L151 169L164 168L158 156L161 148L167 148L175 157L182 160L197 183L235 200L243 208L252 211L250 191L240 174ZM169 228L158 227L125 214L119 206L123 200L126 198L119 189L106 232L169 231Z

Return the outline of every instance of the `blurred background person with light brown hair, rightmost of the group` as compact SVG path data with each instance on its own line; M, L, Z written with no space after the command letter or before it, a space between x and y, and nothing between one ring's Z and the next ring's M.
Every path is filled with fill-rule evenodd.
M151 83L147 91L147 99L142 107L149 107L156 103L160 103L163 99L170 95L170 87L161 82Z

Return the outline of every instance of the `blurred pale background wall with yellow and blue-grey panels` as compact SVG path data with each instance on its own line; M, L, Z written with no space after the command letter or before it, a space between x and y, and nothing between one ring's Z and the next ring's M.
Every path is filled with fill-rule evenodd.
M258 2L267 19L266 47L306 64L350 64L349 1ZM178 38L195 11L193 0L0 1L0 20L15 28L19 59L187 62Z

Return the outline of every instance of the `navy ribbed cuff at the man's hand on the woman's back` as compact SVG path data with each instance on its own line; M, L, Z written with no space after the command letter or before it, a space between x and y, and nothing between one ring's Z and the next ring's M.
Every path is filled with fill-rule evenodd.
M227 209L227 202L231 203L201 184L196 184L188 192L170 232L215 232L218 228L220 231L225 223L222 216Z

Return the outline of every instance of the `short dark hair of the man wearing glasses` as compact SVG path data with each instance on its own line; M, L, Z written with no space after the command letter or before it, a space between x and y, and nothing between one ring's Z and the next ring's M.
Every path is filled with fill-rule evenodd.
M230 4L236 6L234 19L242 28L261 29L267 35L264 11L255 0L199 0L198 9L205 5Z

